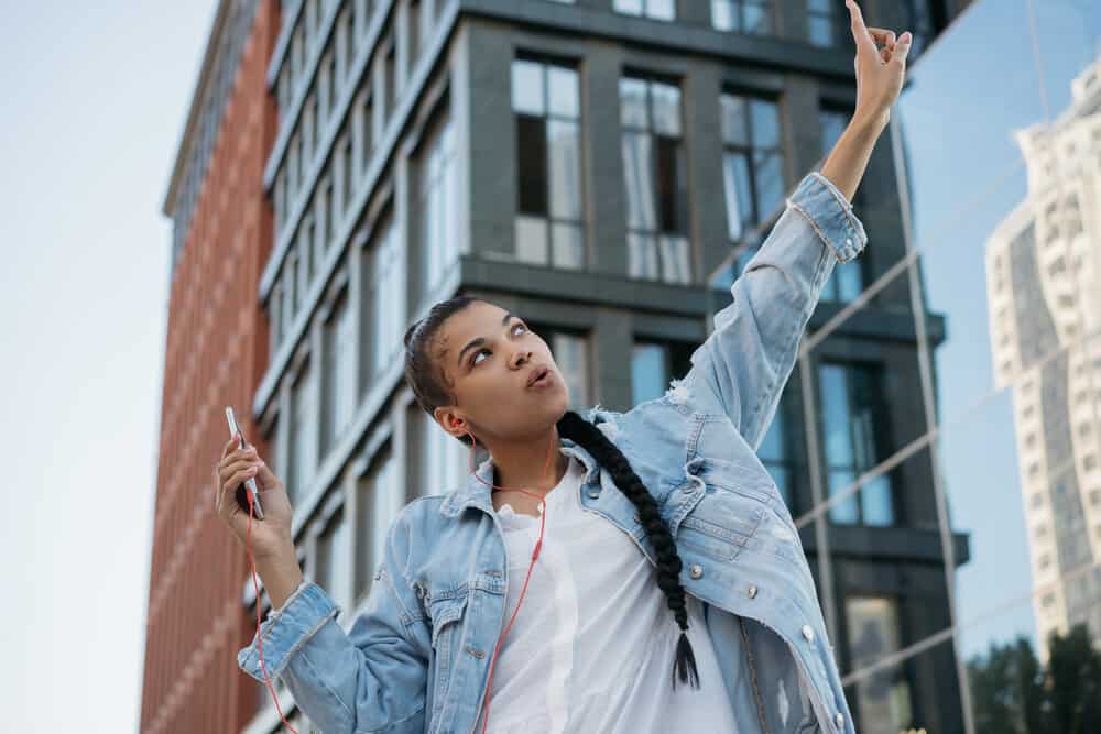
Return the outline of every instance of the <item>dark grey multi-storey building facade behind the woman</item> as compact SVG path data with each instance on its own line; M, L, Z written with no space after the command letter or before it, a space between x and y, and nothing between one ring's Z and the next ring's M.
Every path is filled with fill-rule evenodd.
M915 33L914 63L966 2L862 4ZM547 340L575 405L654 397L855 102L841 0L303 0L283 3L274 48L271 351L252 410L304 569L345 625L390 519L470 461L403 383L405 327L482 295ZM851 490L927 432L915 325L931 346L946 328L915 319L919 280L869 289L907 254L891 134L854 197L868 250L827 285L761 456L803 529L858 730L963 732L951 635L869 668L952 626L946 565L967 560L961 536L946 557L929 450ZM260 688L248 731L277 726Z

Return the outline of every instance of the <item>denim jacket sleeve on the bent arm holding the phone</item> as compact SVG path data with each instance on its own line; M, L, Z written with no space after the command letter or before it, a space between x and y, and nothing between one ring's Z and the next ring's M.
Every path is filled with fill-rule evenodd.
M429 639L417 600L394 562L407 555L396 526L397 521L388 530L367 607L347 633L336 621L340 607L312 581L261 624L269 679L281 677L326 734L424 730ZM263 682L255 636L237 660Z

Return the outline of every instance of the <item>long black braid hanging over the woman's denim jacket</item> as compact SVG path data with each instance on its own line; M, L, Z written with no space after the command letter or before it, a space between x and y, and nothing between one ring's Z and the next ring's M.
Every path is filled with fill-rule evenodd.
M611 442L604 432L574 410L567 410L558 419L558 435L579 443L586 451L608 470L615 486L639 511L639 518L646 537L657 554L657 585L665 592L665 601L673 610L673 616L680 627L680 640L677 643L677 655L673 666L673 688L680 682L691 680L693 688L699 688L699 673L696 670L696 656L688 642L688 610L685 606L685 590L680 585L680 556L677 546L669 534L669 526L662 519L654 500L631 468L619 447Z

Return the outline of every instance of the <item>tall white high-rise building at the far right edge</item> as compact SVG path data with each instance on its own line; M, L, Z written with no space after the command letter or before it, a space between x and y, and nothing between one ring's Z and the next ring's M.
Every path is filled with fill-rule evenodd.
M986 303L1046 659L1051 632L1086 623L1101 640L1101 57L1068 109L1016 141L1028 193L986 243Z

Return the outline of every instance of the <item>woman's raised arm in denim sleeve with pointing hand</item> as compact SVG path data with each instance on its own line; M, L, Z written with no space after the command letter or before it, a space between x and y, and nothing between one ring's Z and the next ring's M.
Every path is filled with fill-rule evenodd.
M715 329L693 353L683 381L687 402L729 416L754 450L833 266L859 255L868 242L851 199L905 73L911 34L896 42L893 31L866 28L852 0L847 4L857 43L857 110L821 173L807 174L785 199L784 212L730 287L733 302L716 314Z

